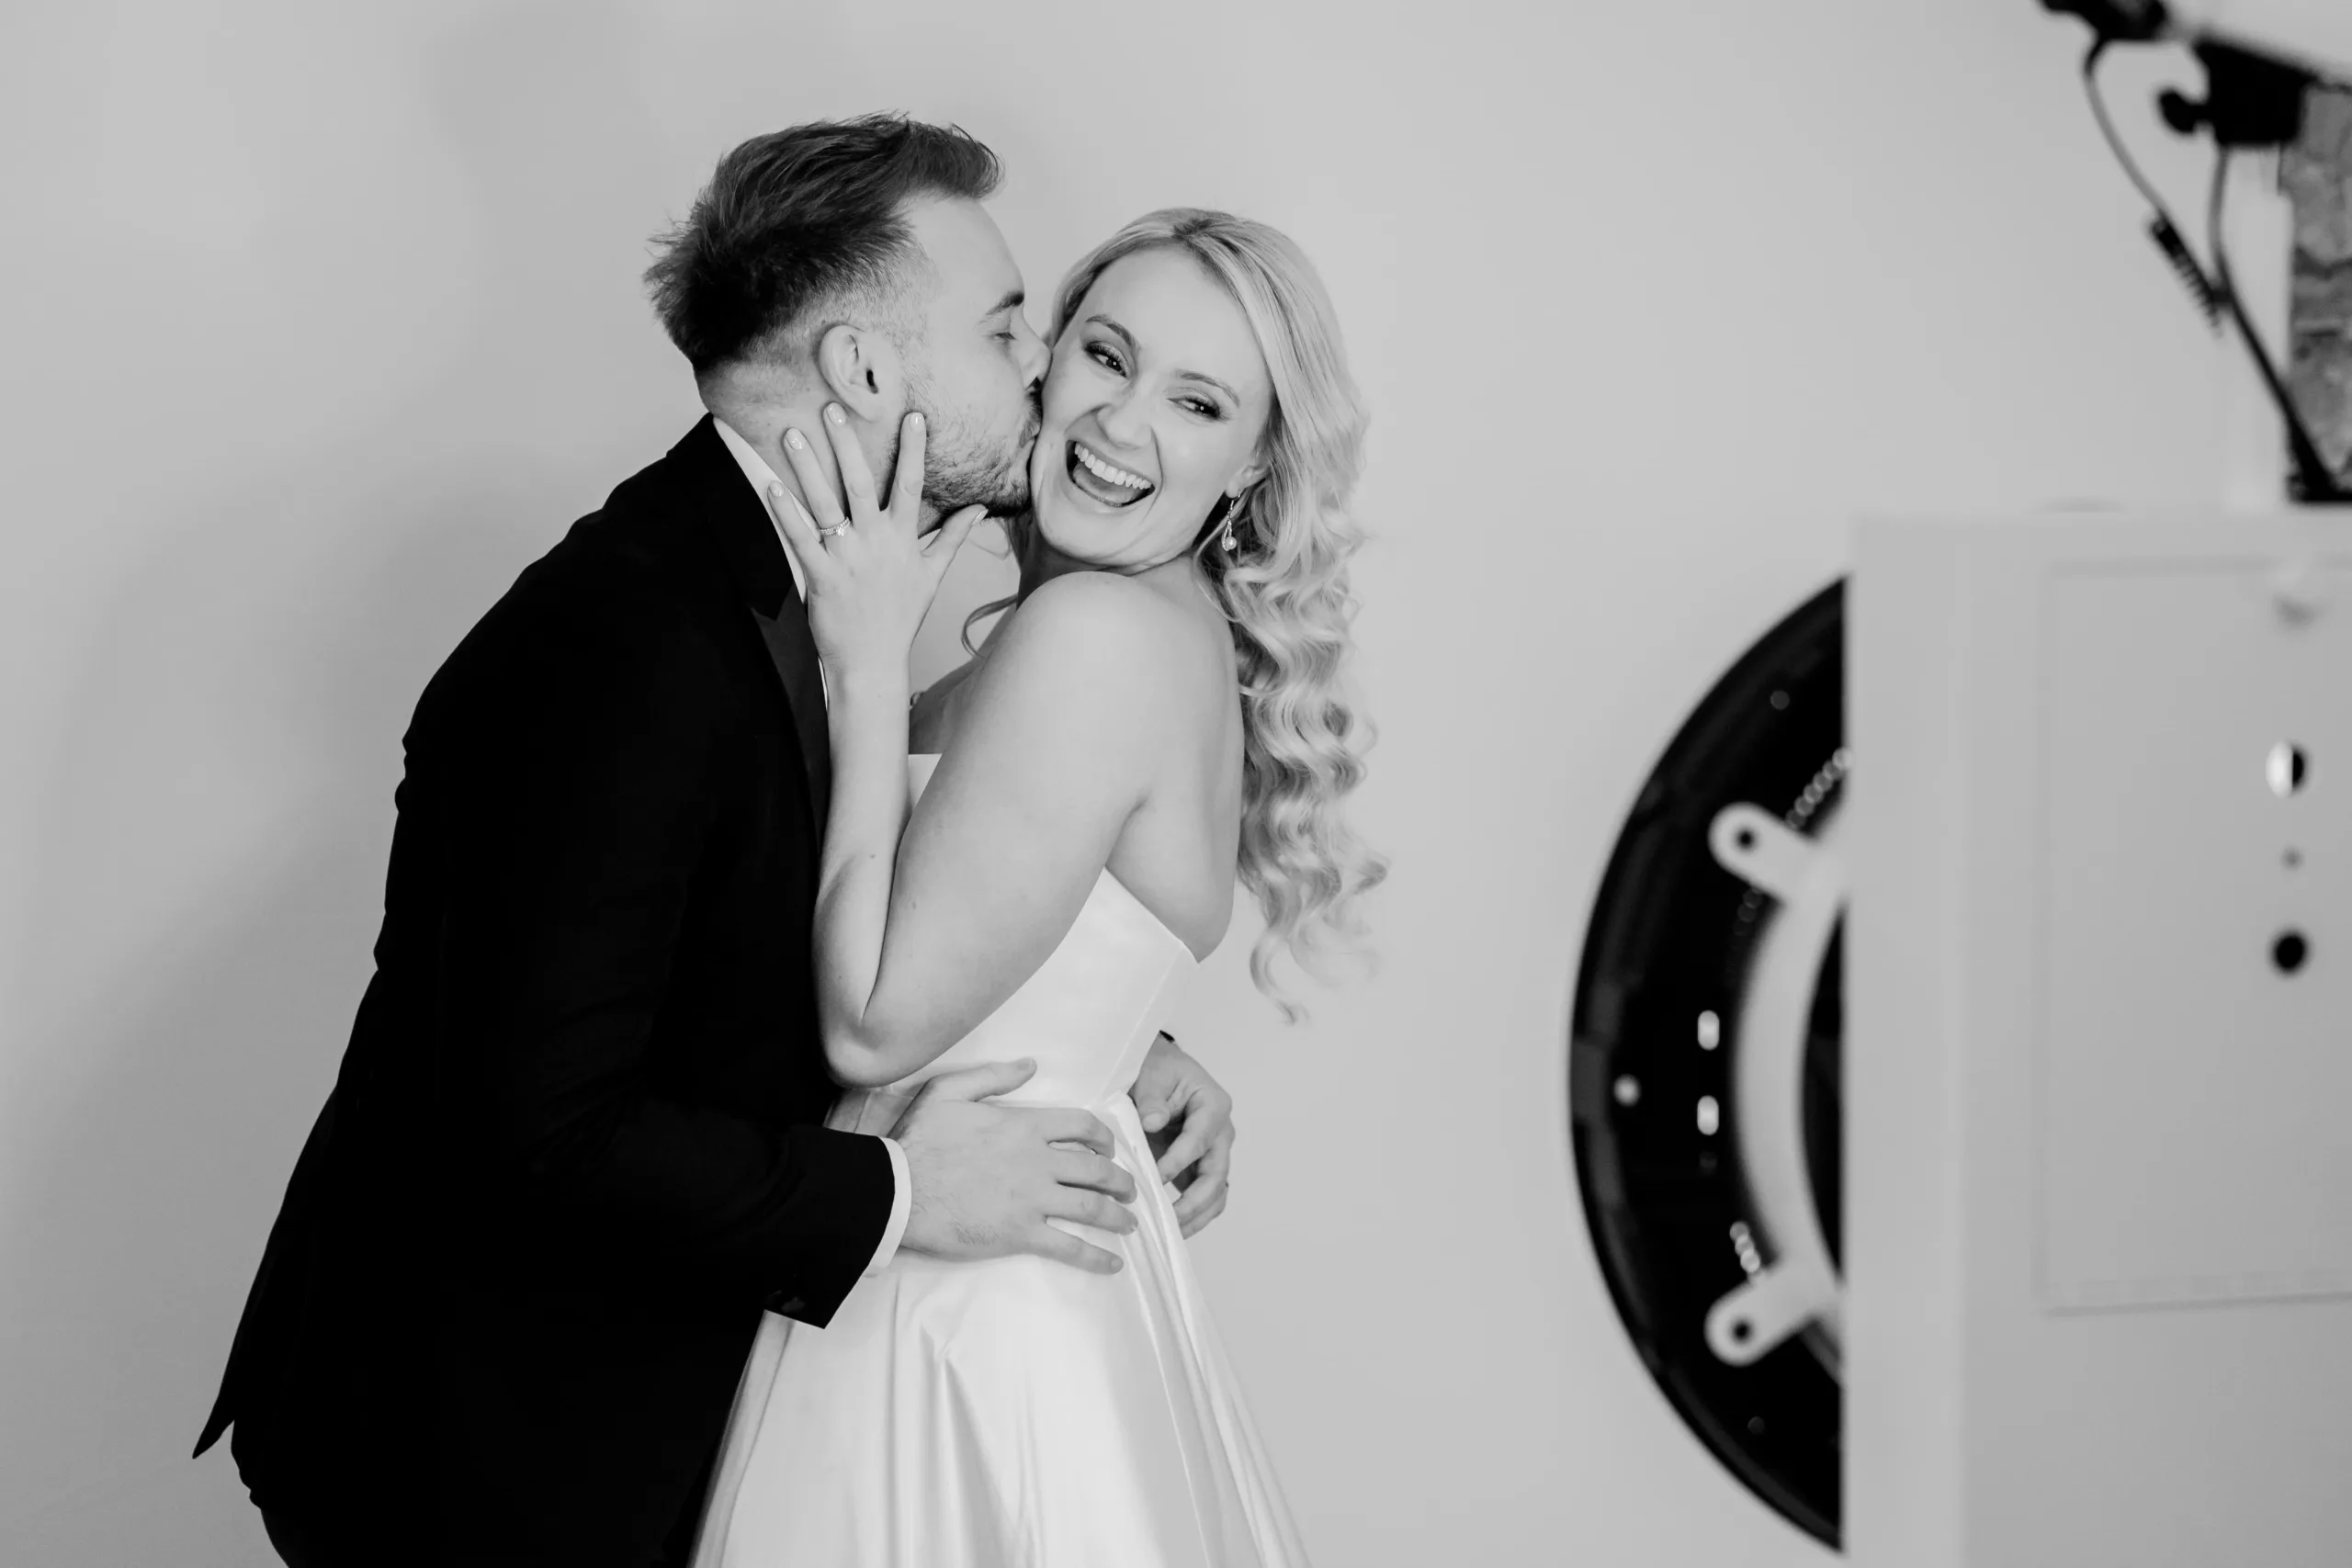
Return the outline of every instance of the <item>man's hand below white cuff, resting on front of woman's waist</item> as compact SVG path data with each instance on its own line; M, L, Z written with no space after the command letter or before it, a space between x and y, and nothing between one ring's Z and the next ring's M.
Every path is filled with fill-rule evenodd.
M1110 1128L1082 1110L985 1103L1035 1072L1035 1063L941 1072L906 1107L889 1133L913 1187L901 1248L929 1258L1037 1253L1091 1274L1120 1272L1115 1253L1047 1225L1136 1227L1124 1208L1136 1182L1110 1157Z

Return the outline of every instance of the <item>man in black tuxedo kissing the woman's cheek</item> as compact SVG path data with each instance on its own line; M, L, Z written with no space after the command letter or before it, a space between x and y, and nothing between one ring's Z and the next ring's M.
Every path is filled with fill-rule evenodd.
M823 1126L826 672L762 496L837 404L875 473L927 416L934 522L1025 503L1047 350L995 183L903 118L729 153L647 275L713 418L426 686L376 976L198 1443L235 1422L294 1568L682 1563L762 1309L821 1328L896 1251L1110 1267L1049 1220L1134 1182L1087 1112L990 1103L1021 1067ZM1230 1100L1167 1037L1136 1100L1195 1229Z

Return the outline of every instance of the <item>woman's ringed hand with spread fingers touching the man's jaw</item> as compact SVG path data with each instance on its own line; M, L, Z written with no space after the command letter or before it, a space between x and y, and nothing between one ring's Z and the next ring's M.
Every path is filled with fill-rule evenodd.
M833 447L840 491L809 437L786 430L783 456L807 505L783 484L769 496L783 543L807 581L809 635L835 679L856 682L868 672L906 679L915 630L985 508L969 505L929 538L922 536L920 414L908 414L901 428L889 501L875 494L866 449L840 404L826 404L823 437Z

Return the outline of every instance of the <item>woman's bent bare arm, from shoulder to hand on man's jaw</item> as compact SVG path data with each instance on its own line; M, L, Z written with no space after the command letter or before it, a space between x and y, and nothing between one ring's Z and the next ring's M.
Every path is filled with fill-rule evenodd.
M788 522L833 684L818 1020L833 1074L870 1086L962 1039L1070 929L1148 795L1169 726L1141 693L1167 689L1183 637L1171 635L1176 611L1124 578L1070 574L1037 588L969 677L960 741L908 823L906 583L929 562L910 548L913 524L894 536L896 517L873 505L854 440L828 435L851 527L818 541ZM908 447L920 442L901 449L901 494L915 484ZM790 442L786 454L807 463ZM802 484L823 515L814 463Z

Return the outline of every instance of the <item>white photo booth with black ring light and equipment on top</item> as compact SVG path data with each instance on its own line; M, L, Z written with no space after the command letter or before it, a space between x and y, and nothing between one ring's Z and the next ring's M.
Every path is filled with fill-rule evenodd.
M2110 139L2105 47L2206 66L2159 103L2216 143L2209 261L2114 146L2241 334L2220 505L1863 527L1618 837L1578 1187L1661 1392L1856 1563L2317 1568L2352 1552L2352 985L2321 957L2352 811L2319 780L2352 743L2352 317L2345 254L2288 237L2352 226L2352 94L2314 78L2352 38L2051 9L2093 28Z

